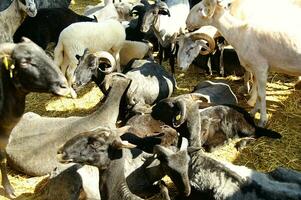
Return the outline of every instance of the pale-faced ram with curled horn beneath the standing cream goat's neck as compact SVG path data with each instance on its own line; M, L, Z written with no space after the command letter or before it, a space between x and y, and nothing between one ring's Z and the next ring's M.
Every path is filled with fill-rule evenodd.
M212 75L212 70L218 71L222 76L244 74L235 50L225 46L224 38L216 34L214 27L204 26L197 31L180 35L177 42L177 63L181 70L188 69L194 61L196 66L208 69L209 75Z

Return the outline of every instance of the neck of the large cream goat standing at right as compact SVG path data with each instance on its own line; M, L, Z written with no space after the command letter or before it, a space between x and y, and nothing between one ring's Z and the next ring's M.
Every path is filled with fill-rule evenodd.
M241 45L241 31L248 28L248 25L243 21L232 16L222 6L217 5L213 15L212 26L217 28L224 36L226 41L231 44L234 49Z

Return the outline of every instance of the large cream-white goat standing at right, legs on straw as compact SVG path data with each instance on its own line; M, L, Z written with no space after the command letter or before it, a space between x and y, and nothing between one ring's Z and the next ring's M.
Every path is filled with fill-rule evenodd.
M300 33L298 29L291 28L287 23L287 21L295 25L300 23L297 20L300 17L300 8L284 1L265 1L264 3L260 2L255 5L258 9L264 8L262 11L265 11L267 6L273 7L270 9L273 12L269 12L265 20L260 17L254 17L248 21L234 18L216 0L204 0L195 5L186 20L189 30L203 25L215 26L237 51L242 66L251 72L256 80L253 91L258 92L258 95L251 114L255 115L260 110L258 124L262 127L267 123L265 98L268 69L295 76L301 75ZM198 12L199 10L202 12ZM290 14L279 16L279 12L283 10L287 10ZM247 40L246 37L248 37ZM271 49L279 49L279 51L271 51Z

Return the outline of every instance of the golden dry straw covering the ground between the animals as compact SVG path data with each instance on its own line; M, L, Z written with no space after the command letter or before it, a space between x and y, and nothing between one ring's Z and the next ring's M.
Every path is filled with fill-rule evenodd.
M75 2L76 9L74 9L74 5L73 9L79 13L83 12L87 2ZM98 1L90 2L95 4ZM84 5L80 5L80 8L77 9L78 3ZM168 64L164 63L164 66L168 66ZM192 67L185 73L177 71L176 79L180 90L175 91L174 95L192 91L193 87L202 80L225 80L238 95L239 104L250 110L246 104L247 97L237 93L239 86L243 84L243 81L238 77L208 77L204 76L204 73L196 67ZM267 85L268 128L281 133L282 139L260 138L249 144L241 152L238 152L234 147L235 142L238 141L236 139L219 148L210 156L263 172L271 171L277 166L301 171L301 91L295 91L293 88L293 83L296 80L296 78L279 74L269 76ZM30 94L26 99L26 111L52 117L83 116L93 112L101 98L102 93L94 84L89 84L81 91L78 99L54 97L49 94ZM9 179L16 189L19 200L37 199L33 194L35 187L38 184L40 185L38 187L42 187L42 180L45 181L45 177L47 176L30 178L14 170L9 170ZM168 181L168 179L165 180ZM0 200L7 199L3 193L3 189L0 188Z

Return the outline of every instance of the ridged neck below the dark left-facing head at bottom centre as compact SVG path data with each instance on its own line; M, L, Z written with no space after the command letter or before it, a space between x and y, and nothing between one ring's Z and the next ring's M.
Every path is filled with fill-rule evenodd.
M99 190L102 200L142 200L131 193L124 175L123 150L112 150L113 160L105 170L99 169Z

